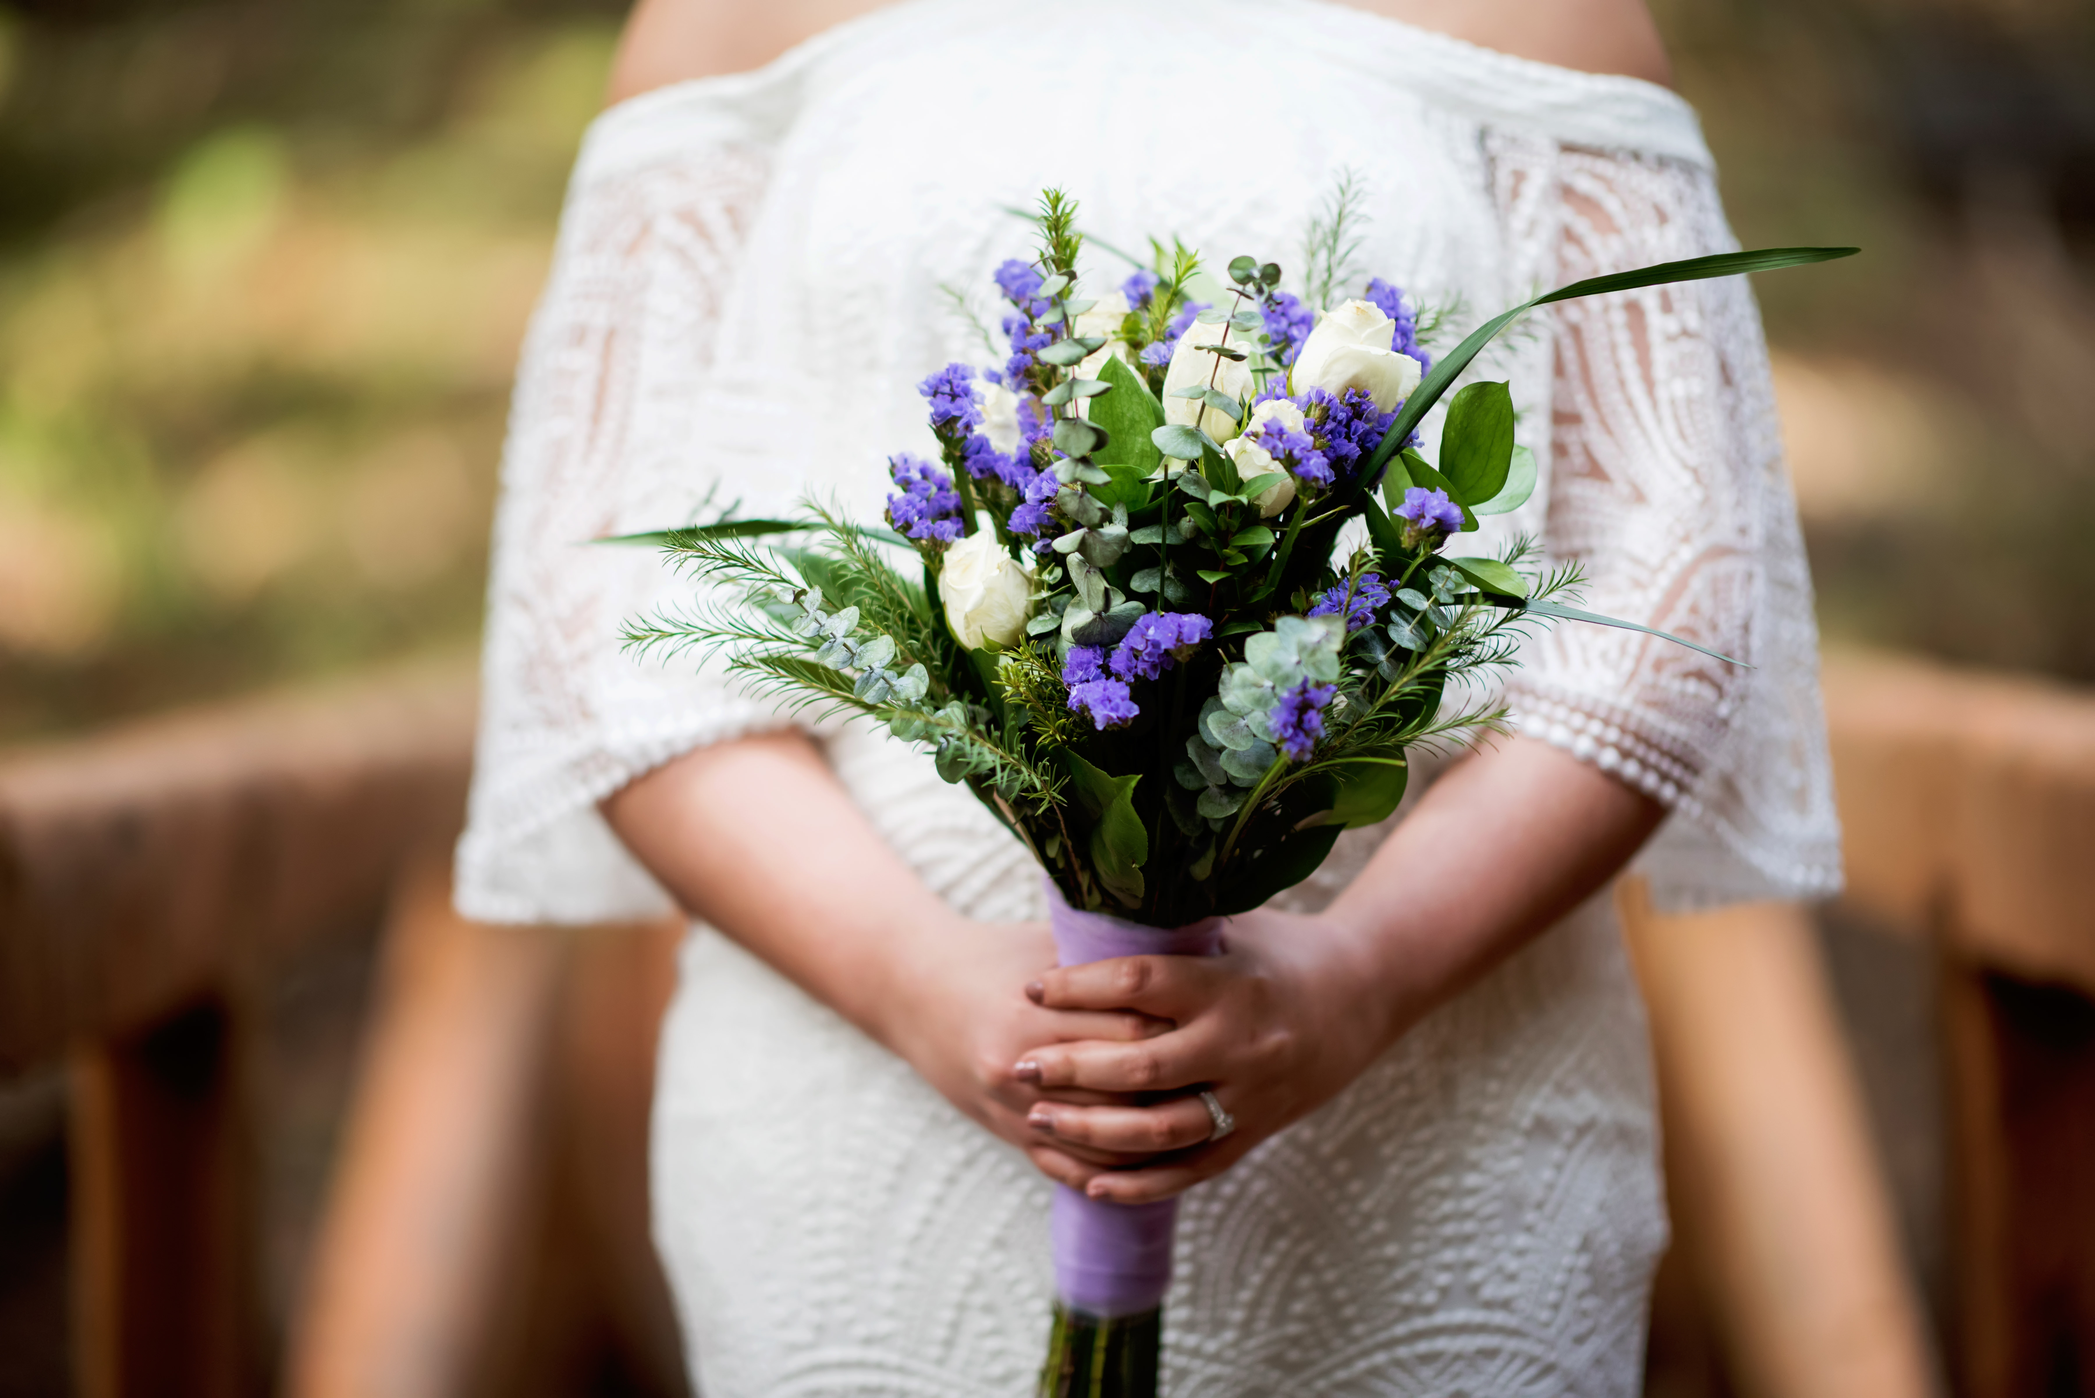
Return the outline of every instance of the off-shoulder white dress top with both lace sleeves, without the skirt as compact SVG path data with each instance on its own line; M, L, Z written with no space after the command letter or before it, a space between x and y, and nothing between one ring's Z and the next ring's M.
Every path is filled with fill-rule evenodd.
M1454 335L1544 285L1730 245L1672 92L1324 0L907 0L608 111L517 381L461 905L664 908L595 803L784 721L687 660L620 654L620 622L687 587L580 541L807 493L878 518L882 461L928 446L916 381L1001 358L976 323L1031 243L1010 210L1043 187L1081 203L1087 277L1119 281L1110 249L1148 235L1299 264L1341 172L1368 216L1358 281ZM1510 690L1525 727L1674 807L1647 855L1663 901L1829 889L1810 589L1743 279L1575 304L1471 375L1510 379L1544 465L1483 547L1540 534L1586 564L1594 610L1758 667L1559 631Z

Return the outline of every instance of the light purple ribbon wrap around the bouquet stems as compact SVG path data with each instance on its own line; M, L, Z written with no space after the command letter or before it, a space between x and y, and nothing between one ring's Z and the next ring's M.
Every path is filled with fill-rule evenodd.
M1161 929L1079 912L1048 882L1048 926L1064 966L1115 956L1217 956L1223 918ZM1177 1199L1106 1203L1056 1184L1048 1239L1062 1304L1102 1318L1140 1316L1171 1289L1171 1235Z

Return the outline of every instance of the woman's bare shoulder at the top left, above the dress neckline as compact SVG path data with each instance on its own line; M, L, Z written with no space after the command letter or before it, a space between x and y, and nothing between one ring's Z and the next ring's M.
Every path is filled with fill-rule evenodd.
M608 99L746 73L886 0L639 0L618 40Z

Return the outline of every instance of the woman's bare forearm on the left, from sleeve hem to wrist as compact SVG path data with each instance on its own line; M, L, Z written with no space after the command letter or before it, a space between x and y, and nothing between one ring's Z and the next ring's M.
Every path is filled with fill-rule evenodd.
M610 796L603 815L691 916L895 1046L899 979L953 914L809 738L698 748Z

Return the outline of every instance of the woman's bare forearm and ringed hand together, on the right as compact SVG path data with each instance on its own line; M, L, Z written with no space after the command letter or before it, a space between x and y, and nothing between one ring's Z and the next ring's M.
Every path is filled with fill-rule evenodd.
M1146 956L1045 973L1054 1008L1140 1008L1177 1021L1142 1044L1050 1044L1018 1065L1068 1088L1213 1084L1238 1132L1140 1170L1041 1161L1064 1184L1140 1203L1221 1174L1328 1102L1427 1010L1586 901L1651 836L1663 807L1544 742L1515 738L1450 769L1322 914L1230 920L1213 960ZM1490 838L1479 838L1490 832ZM1519 851L1515 857L1513 851ZM1186 1151L1213 1121L1198 1098L1154 1107L1043 1100L1033 1123L1071 1149Z

